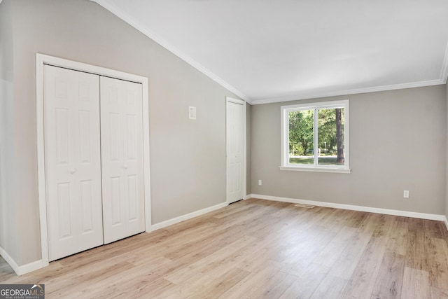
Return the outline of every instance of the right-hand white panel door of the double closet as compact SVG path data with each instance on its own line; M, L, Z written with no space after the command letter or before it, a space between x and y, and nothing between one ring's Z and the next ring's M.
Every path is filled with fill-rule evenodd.
M101 78L104 244L145 230L141 84Z

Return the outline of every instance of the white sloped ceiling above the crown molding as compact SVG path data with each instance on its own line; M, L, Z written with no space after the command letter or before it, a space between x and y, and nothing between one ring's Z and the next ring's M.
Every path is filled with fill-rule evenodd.
M447 81L447 0L94 1L252 104Z

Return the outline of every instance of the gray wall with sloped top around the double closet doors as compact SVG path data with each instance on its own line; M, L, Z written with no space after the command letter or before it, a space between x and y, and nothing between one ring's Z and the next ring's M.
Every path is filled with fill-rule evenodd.
M225 202L225 97L236 95L94 2L5 0L0 10L6 5L14 6L18 265L41 258L36 53L149 78L153 224Z

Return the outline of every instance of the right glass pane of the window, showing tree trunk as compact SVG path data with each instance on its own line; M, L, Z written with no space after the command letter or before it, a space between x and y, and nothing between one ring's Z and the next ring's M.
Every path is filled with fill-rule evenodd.
M344 108L318 109L318 165L344 165Z

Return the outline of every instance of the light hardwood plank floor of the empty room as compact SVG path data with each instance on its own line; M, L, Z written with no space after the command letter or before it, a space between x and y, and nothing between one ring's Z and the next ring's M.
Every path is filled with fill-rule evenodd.
M46 298L448 298L441 221L244 200L0 283Z

